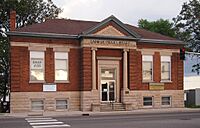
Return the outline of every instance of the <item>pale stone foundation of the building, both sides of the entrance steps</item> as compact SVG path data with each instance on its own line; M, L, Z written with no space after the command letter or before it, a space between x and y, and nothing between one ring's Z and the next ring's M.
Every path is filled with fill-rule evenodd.
M123 104L126 111L146 108L143 106L143 97L153 97L151 108L184 107L183 90L163 90L163 91L129 91L123 95ZM171 97L171 105L163 106L162 96ZM64 111L100 111L100 92L92 91L71 91L71 92L11 92L11 113L31 112L31 100L42 99L44 101L44 111L56 110L56 100L68 100L68 109ZM149 108L149 107L148 107Z

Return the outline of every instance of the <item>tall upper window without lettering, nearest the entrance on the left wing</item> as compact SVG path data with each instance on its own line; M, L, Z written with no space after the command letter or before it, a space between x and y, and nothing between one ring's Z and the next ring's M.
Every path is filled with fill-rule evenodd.
M55 80L68 81L68 53L55 52Z

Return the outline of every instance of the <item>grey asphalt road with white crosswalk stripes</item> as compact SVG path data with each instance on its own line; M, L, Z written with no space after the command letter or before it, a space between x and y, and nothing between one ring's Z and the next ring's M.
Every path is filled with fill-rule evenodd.
M0 118L0 128L200 128L200 113Z

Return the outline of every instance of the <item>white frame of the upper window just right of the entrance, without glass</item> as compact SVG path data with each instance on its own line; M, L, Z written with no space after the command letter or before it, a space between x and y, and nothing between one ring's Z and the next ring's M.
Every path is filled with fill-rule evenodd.
M152 64L152 76L151 76L151 80L144 80L143 79L143 62L151 62ZM153 68L153 55L142 55L142 83L150 83L153 82L153 73L154 73L154 68Z

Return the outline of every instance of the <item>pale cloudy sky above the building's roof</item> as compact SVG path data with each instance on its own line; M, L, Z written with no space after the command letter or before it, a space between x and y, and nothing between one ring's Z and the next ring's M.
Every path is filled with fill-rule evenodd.
M101 21L115 15L122 22L137 25L139 19L172 19L188 0L54 0L63 8L62 18Z

